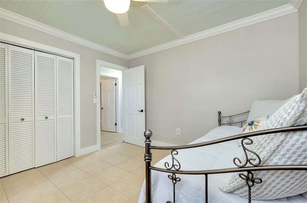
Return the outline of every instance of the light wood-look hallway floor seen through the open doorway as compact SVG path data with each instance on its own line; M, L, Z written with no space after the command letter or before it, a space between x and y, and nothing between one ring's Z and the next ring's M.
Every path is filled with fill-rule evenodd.
M101 149L122 143L122 132L100 131Z

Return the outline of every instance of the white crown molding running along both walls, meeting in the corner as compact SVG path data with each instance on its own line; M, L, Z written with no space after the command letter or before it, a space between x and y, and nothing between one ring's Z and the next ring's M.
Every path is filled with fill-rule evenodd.
M149 49L142 50L142 51L139 51L139 52L136 52L136 53L133 53L133 54L129 54L129 55L120 53L118 51L112 50L108 47L96 44L96 43L88 41L86 39L82 39L80 37L69 34L67 32L60 31L56 28L52 28L48 25L42 24L42 23L37 22L35 20L32 20L32 19L29 19L27 17L18 15L16 13L10 12L6 9L0 8L0 17L5 18L7 20L14 21L16 23L19 23L19 24L22 24L22 25L25 25L25 26L28 26L28 27L31 27L31 28L34 28L34 29L37 29L37 30L40 30L40 31L43 31L43 32L46 32L46 33L51 34L51 35L55 35L55 36L63 38L63 39L67 39L69 41L90 47L92 49L105 52L107 54L111 54L111 55L114 55L114 56L117 56L117 57L120 57L120 58L123 58L123 59L126 59L126 60L130 60L130 59L133 59L133 58L136 58L136 57L144 56L144 55L147 55L147 54L152 54L152 53L157 52L157 51L161 51L161 50L169 49L169 48L172 48L172 47L175 47L175 46L179 46L179 45L182 45L182 44L185 44L185 43L188 43L188 42L193 42L193 41L203 39L203 38L206 38L206 37L210 37L210 36L213 36L213 35L217 35L217 34L220 34L220 33L223 33L223 32L231 31L231 30L234 30L234 29L237 29L237 28L242 28L242 27L245 27L245 26L248 26L248 25L251 25L251 24L259 23L259 22L262 22L262 21L265 21L265 20L270 20L272 18L276 18L276 17L280 17L280 16L283 16L283 15L287 15L287 14L290 14L290 13L297 12L299 6L301 5L301 2L302 2L302 0L298 0L298 1L292 0L290 4L280 6L278 8L271 9L271 10L265 11L263 13L258 13L256 15L253 15L253 16L250 16L250 17L246 17L246 18L243 18L243 19L240 19L240 20L236 20L236 21L233 21L233 22L230 22L230 23L227 23L227 24L215 27L215 28L211 28L209 30L205 30L205 31L193 34L193 35L186 36L182 39L176 39L176 40L173 40L171 42L167 42L165 44L154 46L154 47L151 47Z

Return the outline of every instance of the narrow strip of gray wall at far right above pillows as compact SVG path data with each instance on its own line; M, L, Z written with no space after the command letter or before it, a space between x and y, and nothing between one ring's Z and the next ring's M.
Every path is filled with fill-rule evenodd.
M298 9L299 88L307 87L307 1Z

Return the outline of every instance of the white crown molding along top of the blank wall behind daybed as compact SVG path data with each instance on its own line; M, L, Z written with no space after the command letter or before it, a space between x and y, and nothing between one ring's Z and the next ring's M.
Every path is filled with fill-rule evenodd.
M196 40L199 40L199 39L203 39L203 38L210 37L212 35L217 35L217 34L220 34L220 33L223 33L223 32L227 32L227 31L231 31L231 30L234 30L234 29L237 29L237 28L242 28L242 27L245 27L245 26L248 26L248 25L251 25L251 24L255 24L255 23L265 21L265 20L272 19L272 18L280 17L280 16L283 16L283 15L286 15L286 14L289 14L289 13L293 13L293 12L296 12L296 11L297 11L297 9L295 9L291 4L287 4L287 5L275 8L275 9L265 11L263 13L258 13L256 15L253 15L253 16L250 16L250 17L246 17L246 18L236 20L236 21L233 21L233 22L230 22L230 23L227 23L227 24L215 27L215 28L211 28L209 30L198 32L196 34L189 35L189 36L184 37L182 39L176 39L176 40L173 40L171 42L167 42L165 44L161 44L161 45L154 46L154 47L146 49L146 50L136 52L134 54L129 54L128 58L130 60L130 59L137 58L137 57L140 57L140 56L144 56L144 55L147 55L147 54L152 54L152 53L157 52L157 51L169 49L169 48L172 48L174 46L179 46L179 45L182 45L182 44L185 44L185 43L188 43L188 42L193 42L193 41L196 41Z

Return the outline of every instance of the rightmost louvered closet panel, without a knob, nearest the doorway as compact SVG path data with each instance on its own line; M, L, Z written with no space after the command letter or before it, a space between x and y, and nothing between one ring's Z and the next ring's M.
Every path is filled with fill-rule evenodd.
M57 161L73 156L73 60L56 56Z

